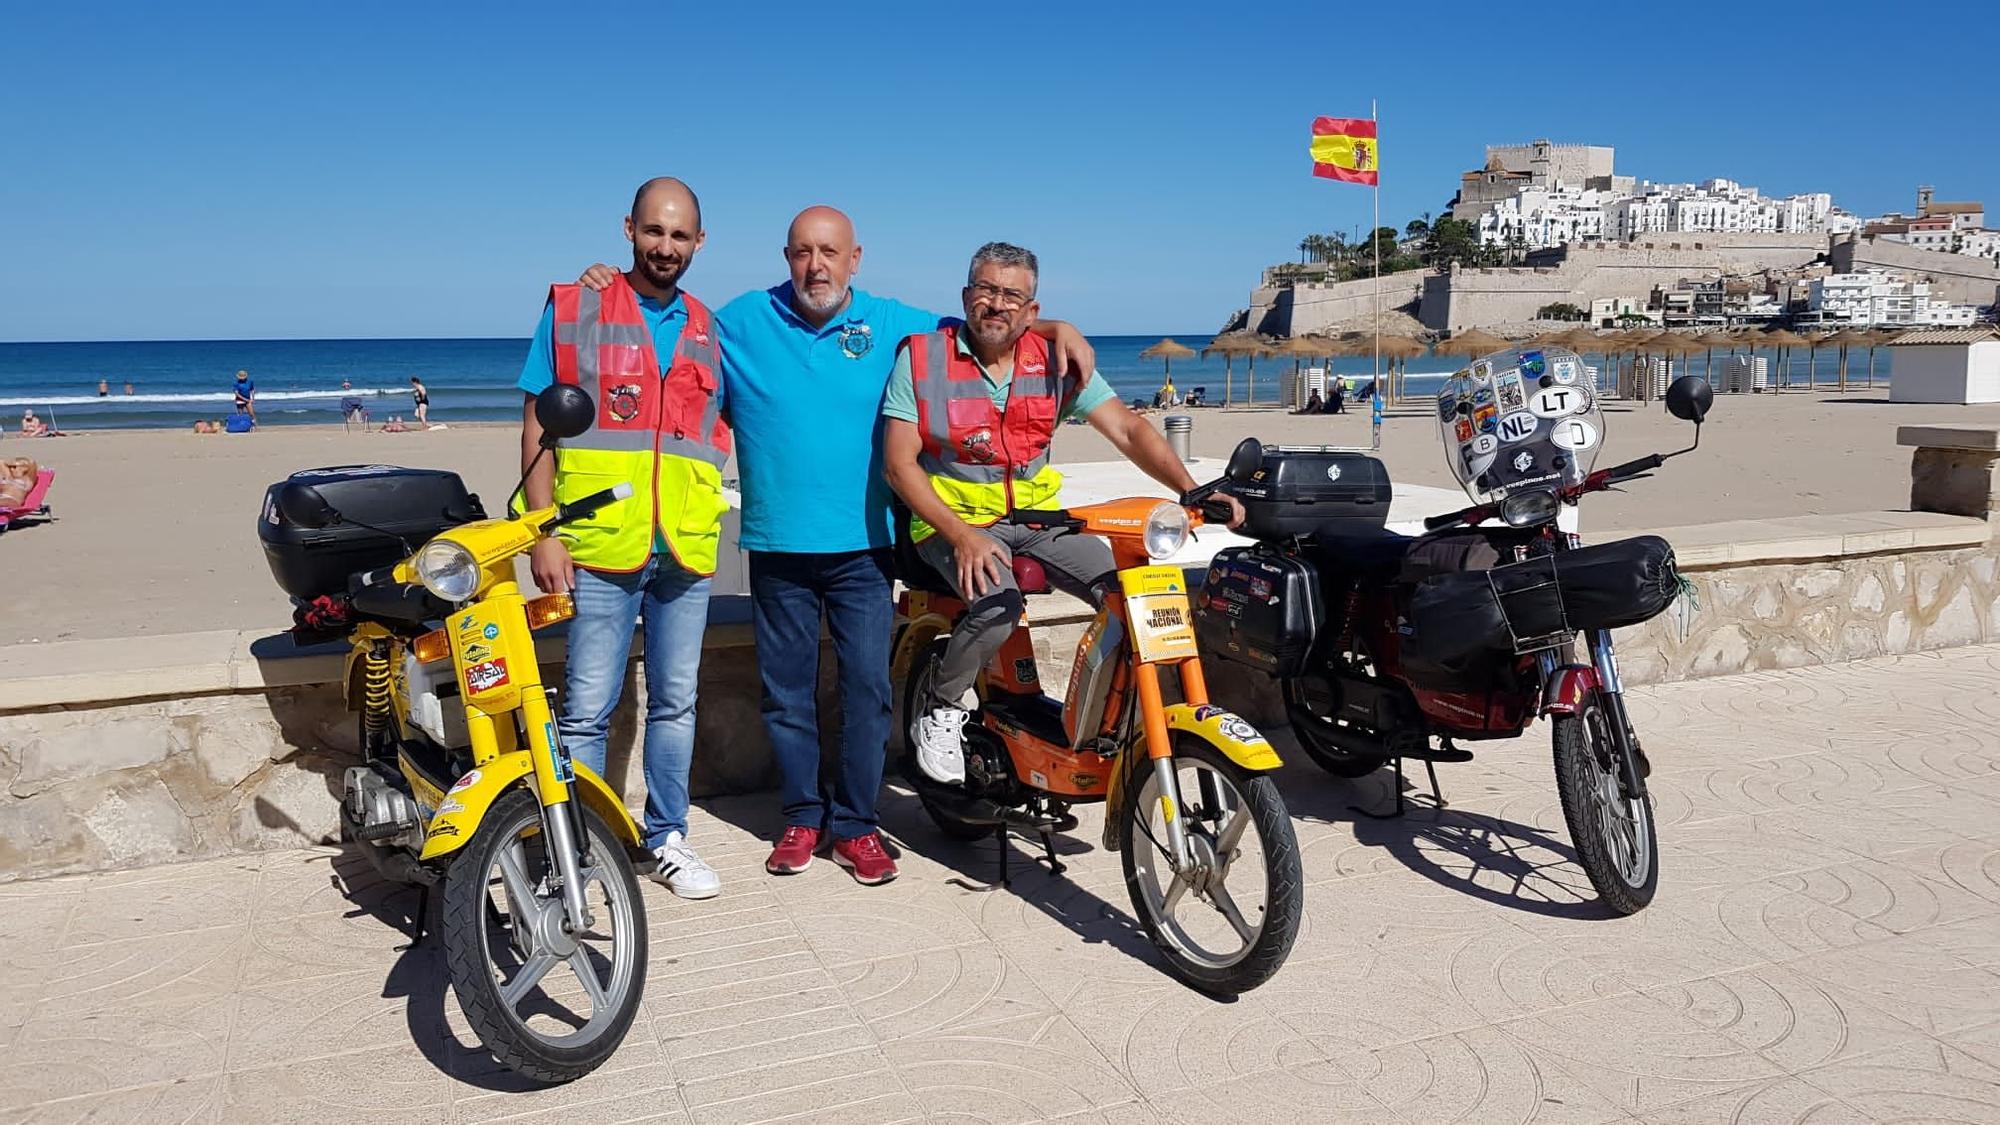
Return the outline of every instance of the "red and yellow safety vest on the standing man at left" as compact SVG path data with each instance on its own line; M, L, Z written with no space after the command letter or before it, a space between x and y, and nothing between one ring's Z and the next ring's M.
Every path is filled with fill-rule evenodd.
M682 292L688 318L662 372L638 294L616 278L604 292L550 286L556 378L596 402L592 424L562 442L556 500L618 482L632 496L564 526L570 556L592 571L638 571L664 540L688 571L712 575L722 542L722 358L708 306Z

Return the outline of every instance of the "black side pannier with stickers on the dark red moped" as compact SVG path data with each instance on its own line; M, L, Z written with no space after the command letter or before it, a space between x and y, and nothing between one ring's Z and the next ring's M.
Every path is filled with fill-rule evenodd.
M1274 677L1304 671L1324 621L1312 562L1262 544L1218 550L1194 599L1204 655Z

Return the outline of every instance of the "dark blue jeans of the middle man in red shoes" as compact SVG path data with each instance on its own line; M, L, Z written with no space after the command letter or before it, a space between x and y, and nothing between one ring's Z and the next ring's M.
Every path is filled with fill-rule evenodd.
M820 615L840 659L840 769L828 779L820 777ZM752 550L750 619L784 823L842 841L866 837L876 831L888 753L888 641L896 625L888 552Z

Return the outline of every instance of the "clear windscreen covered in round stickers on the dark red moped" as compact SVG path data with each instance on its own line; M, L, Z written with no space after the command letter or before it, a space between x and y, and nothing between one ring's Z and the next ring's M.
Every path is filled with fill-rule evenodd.
M1508 348L1444 380L1444 460L1476 502L1582 482L1604 444L1604 414L1576 352Z

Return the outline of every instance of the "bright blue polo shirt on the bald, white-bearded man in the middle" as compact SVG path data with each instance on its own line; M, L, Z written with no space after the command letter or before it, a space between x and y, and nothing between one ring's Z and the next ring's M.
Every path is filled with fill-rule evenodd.
M822 328L792 310L792 282L716 310L746 550L820 554L894 542L876 442L882 390L896 344L946 318L850 294Z

